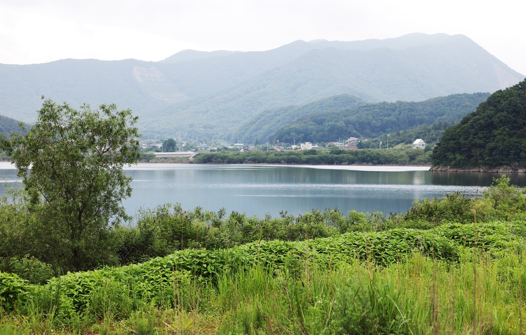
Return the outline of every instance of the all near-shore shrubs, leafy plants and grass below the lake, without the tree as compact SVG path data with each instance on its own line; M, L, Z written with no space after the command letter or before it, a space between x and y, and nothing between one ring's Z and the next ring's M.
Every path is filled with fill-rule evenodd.
M523 331L526 190L506 176L404 214L145 209L85 269L27 201L0 203L2 334Z

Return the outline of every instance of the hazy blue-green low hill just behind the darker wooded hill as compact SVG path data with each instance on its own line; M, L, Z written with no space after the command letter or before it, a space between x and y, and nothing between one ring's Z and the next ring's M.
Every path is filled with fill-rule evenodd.
M303 106L285 106L275 109L261 111L251 117L238 129L227 135L227 139L235 139L237 142L254 143L266 142L276 129L285 126L292 121L312 113L331 113L335 111L348 110L367 102L352 95L342 94L326 99L321 99ZM270 139L272 141L272 139Z

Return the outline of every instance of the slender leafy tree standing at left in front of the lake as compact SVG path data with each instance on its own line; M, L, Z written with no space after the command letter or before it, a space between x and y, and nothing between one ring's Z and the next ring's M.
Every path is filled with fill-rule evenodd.
M123 166L140 158L136 122L115 105L75 110L48 99L27 135L0 138L67 268L97 266L110 222L127 219L121 200L131 195L132 179Z

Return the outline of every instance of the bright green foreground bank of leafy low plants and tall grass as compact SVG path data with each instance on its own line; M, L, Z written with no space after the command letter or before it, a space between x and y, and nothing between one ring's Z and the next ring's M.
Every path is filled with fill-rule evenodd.
M524 223L481 224L477 235L475 227L183 250L46 285L18 281L11 285L15 298L3 301L0 329L433 334L474 327L476 333L519 333L526 312Z

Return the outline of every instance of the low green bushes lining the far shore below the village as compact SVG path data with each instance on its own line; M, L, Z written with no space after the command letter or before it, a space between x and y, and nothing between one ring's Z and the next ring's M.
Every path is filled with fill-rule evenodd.
M356 149L341 150L291 150L261 151L252 150L246 153L220 151L219 153L197 154L193 163L197 164L370 164L370 165L407 165L429 164L431 151L422 149L383 150Z

